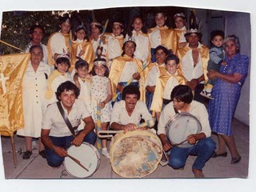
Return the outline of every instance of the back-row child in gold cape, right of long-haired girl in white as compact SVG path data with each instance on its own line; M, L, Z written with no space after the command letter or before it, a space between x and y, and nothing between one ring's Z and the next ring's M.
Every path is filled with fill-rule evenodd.
M151 48L151 61L155 62L154 49L157 46L166 46L168 50L172 50L176 53L178 49L178 38L175 30L170 29L166 26L166 14L158 12L155 14L154 21L156 26L151 28L148 32L150 37L150 48Z

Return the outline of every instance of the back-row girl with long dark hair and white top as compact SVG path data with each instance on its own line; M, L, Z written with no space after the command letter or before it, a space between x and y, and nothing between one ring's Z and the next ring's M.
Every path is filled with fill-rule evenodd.
M150 59L150 39L140 16L135 16L130 22L125 42L129 39L132 39L137 45L134 57L142 60L143 66L146 66L146 62L149 62Z

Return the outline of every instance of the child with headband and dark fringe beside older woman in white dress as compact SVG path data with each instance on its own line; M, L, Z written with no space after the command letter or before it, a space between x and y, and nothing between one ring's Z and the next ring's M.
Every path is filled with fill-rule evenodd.
M58 102L55 96L57 88L62 82L72 81L70 73L67 71L70 68L70 58L66 54L59 54L56 59L54 71L49 75L47 81L46 99L48 99L48 105L53 102Z

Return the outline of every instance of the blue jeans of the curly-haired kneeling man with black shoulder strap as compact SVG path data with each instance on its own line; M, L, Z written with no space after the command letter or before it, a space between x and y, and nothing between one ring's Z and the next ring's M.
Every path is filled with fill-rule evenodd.
M94 145L96 141L96 134L94 130L91 130L89 134L83 139L83 142L89 142L90 144ZM51 141L54 143L54 146L63 147L65 150L70 147L71 142L73 141L73 135L66 136L66 137L53 137L50 136ZM58 167L62 165L64 161L63 157L58 156L53 150L46 146L46 161L49 166Z

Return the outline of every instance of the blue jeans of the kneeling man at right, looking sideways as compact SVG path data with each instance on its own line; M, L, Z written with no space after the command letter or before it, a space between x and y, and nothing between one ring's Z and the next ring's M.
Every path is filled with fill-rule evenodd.
M202 170L215 149L216 143L211 138L201 139L189 148L174 146L170 150L169 165L174 169L180 169L186 165L186 159L192 154L198 156L194 161L192 169Z

